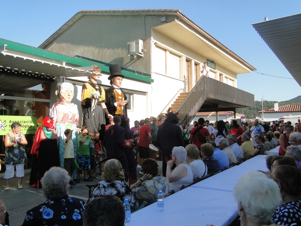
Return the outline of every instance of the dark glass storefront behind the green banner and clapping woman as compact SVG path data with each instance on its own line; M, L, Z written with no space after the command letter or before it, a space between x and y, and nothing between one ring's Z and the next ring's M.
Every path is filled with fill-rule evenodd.
M40 80L22 79L0 74L0 118L9 116L35 116L37 123L42 124L43 118L50 111L50 83ZM38 101L36 101L38 100ZM10 127L6 127L8 132ZM4 135L0 136L0 154L5 154ZM34 134L25 135L28 144L25 146L28 162L24 169L30 169L32 158L30 155ZM4 161L4 156L0 155ZM5 165L1 173L5 172Z

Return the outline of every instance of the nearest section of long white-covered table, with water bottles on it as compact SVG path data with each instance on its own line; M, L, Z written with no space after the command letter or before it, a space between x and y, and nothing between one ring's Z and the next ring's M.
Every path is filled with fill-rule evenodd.
M164 199L164 211L157 211L157 203L132 213L132 225L189 225L213 224L227 226L238 216L232 192L188 187Z

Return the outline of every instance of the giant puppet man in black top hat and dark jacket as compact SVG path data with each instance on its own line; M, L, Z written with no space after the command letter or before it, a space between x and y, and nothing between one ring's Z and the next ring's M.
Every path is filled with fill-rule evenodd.
M113 64L109 67L111 87L106 89L106 106L111 115L128 116L126 105L126 94L120 89L124 75L121 74L121 67Z

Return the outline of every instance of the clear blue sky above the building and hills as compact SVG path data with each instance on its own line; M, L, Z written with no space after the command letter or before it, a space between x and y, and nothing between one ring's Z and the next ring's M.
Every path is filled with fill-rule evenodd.
M300 0L230 1L1 1L0 38L38 47L81 10L181 9L182 13L257 68L238 75L237 88L255 95L255 100L284 101L301 95L301 88L268 48L251 24L264 17L275 19L301 13ZM289 34L288 34L289 35Z

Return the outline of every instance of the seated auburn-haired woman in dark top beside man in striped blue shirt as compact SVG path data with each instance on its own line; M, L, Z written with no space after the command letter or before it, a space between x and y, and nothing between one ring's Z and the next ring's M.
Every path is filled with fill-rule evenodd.
M219 171L219 162L212 157L214 153L214 147L209 144L202 144L201 145L201 155L204 163L208 167L208 174L209 173L217 173Z

